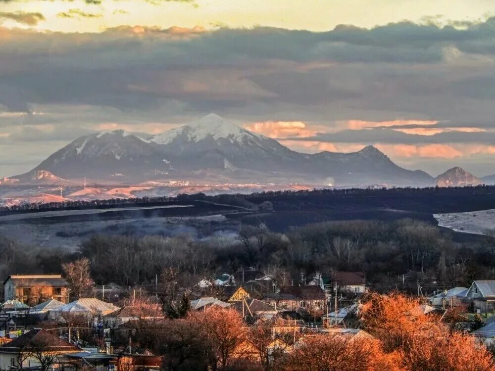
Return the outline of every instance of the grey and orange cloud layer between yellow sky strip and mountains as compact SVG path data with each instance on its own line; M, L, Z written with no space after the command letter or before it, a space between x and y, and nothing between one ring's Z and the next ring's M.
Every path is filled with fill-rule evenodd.
M433 174L492 174L495 18L462 26L0 28L0 139L156 132L214 111L295 149L376 144Z

